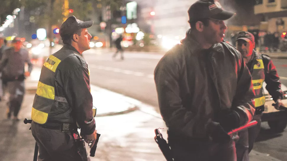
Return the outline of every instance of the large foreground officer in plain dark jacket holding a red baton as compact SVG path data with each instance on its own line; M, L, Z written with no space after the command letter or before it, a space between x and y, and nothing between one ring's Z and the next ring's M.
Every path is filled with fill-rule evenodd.
M218 1L199 0L188 15L186 38L154 71L171 153L175 161L233 161L227 133L249 123L254 112L249 70L240 52L223 41L224 20L234 13Z

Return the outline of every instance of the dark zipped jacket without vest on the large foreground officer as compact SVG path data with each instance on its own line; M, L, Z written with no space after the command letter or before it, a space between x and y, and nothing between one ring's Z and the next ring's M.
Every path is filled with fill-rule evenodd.
M240 52L226 42L202 50L187 34L159 61L154 80L163 120L184 136L210 136L216 113L224 109L238 112L241 126L252 119L251 75Z

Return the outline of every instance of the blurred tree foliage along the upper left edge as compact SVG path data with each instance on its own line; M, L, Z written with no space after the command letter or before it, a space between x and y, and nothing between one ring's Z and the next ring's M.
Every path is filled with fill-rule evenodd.
M33 11L35 21L39 27L46 27L47 22L51 20L53 25L60 25L65 17L62 13L64 12L64 1L65 0L0 0L1 10L1 24L6 19L6 16L12 14L14 9L25 7L25 11ZM51 9L50 3L53 2ZM93 3L102 4L102 6L111 6L111 9L119 9L122 4L122 0L69 0L69 8L73 9L74 12L70 13L69 16L74 15L78 19L87 20L90 17L93 8ZM3 7L2 7L3 6Z

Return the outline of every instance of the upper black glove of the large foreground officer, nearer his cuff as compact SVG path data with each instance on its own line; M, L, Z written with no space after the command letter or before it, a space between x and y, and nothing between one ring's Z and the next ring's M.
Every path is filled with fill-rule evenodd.
M216 122L224 129L225 132L230 132L240 126L239 114L234 110L222 110L215 119Z

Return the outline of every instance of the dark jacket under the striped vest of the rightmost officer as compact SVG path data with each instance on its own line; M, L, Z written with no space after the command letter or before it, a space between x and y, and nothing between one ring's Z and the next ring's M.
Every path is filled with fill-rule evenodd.
M273 64L271 58L265 54L258 54L253 50L253 59L247 64L252 77L255 77L257 73L254 73L254 65L257 65L257 58L262 59L264 65L264 73L261 73L262 79L266 83L266 90L272 96L273 100L276 102L277 99L283 98L283 91L281 90L281 82L278 76L275 65ZM263 74L263 75L262 75Z

